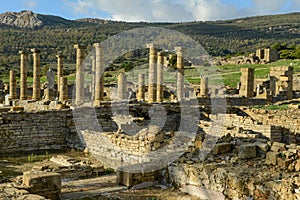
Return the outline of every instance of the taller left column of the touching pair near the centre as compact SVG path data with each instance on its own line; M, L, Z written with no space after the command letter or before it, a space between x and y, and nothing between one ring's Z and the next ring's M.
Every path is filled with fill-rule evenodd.
M150 49L149 56L149 83L148 83L148 102L156 102L156 63L157 63L157 50L154 44L147 44L147 48Z

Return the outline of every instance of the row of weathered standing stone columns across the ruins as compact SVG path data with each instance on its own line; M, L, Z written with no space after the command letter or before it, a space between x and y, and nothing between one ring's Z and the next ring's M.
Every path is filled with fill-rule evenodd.
M97 106L103 101L104 97L104 61L103 61L103 47L100 43L94 45L96 54L92 56L92 93L94 96L94 105ZM150 50L149 56L149 82L148 82L148 102L162 102L163 101L163 67L166 62L162 52L158 52L154 44L147 44ZM75 103L81 104L84 102L84 59L85 59L85 45L74 45L76 49L76 94ZM184 64L183 64L183 48L176 47L177 54L177 99L182 100L184 96L183 84L184 84ZM41 97L40 89L40 51L37 49L31 50L33 53L33 100L39 100ZM20 51L20 99L27 99L27 52ZM63 77L63 56L59 53L57 57L57 88L59 90L59 99L66 100L67 79ZM16 77L15 72L11 71L10 78L10 97L16 98ZM145 100L145 76L139 74L138 77L138 100ZM118 98L126 99L127 90L126 76L120 75L118 77Z

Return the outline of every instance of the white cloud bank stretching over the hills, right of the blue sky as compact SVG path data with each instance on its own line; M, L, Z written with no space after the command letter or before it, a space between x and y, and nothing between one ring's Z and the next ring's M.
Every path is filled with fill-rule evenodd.
M70 2L76 15L106 13L122 21L200 21L278 13L299 0L78 0ZM236 2L236 4L228 3ZM239 3L237 5L237 3ZM242 5L242 6L241 6ZM244 5L244 6L243 6Z

